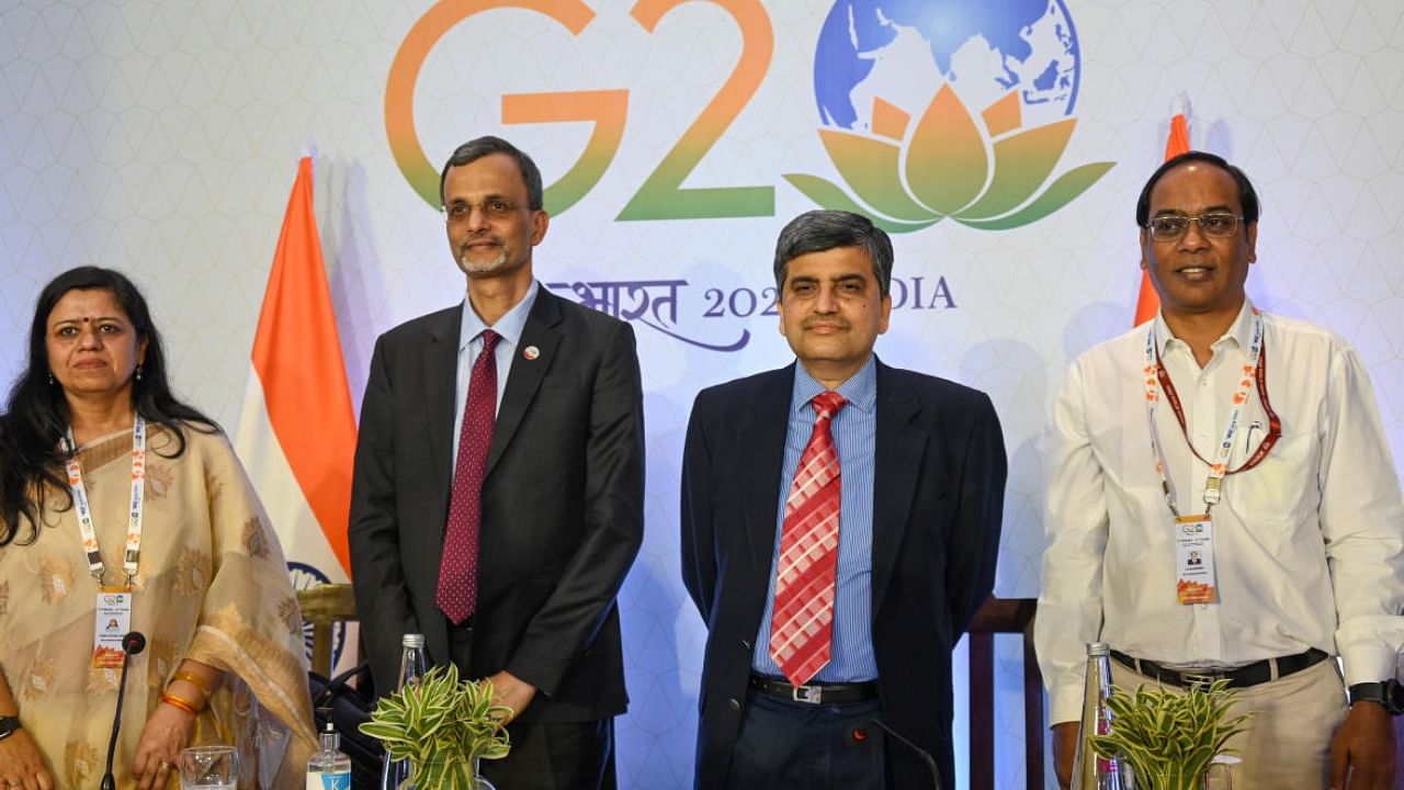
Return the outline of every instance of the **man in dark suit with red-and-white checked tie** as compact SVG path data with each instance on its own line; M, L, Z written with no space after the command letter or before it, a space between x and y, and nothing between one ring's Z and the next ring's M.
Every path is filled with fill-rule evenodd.
M699 789L955 786L951 648L994 585L1004 441L984 394L873 356L892 260L856 214L792 221L775 285L799 364L692 408L681 544L709 631ZM792 538L792 520L826 517L837 548Z

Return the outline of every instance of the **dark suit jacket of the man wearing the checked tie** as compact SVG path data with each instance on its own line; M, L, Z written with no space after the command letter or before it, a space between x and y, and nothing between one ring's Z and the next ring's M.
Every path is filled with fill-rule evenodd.
M682 581L708 624L696 786L722 787L771 561L795 365L702 391L682 458ZM1005 457L990 399L878 363L872 638L885 723L955 787L951 648L994 586ZM931 772L887 742L897 787Z

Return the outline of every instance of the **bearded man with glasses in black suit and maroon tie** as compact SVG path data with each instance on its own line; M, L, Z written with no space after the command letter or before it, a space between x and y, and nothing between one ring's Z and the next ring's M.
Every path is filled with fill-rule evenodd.
M380 336L361 409L351 569L376 687L423 633L514 711L487 779L614 787L615 596L643 540L633 332L534 278L549 218L525 153L470 141L439 193L468 298Z

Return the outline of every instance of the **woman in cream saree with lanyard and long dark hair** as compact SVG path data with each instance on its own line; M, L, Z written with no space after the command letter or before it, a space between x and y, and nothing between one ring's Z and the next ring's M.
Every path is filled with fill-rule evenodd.
M316 745L302 621L278 540L225 436L212 425L191 422L188 415L198 412L170 398L160 339L135 287L110 270L60 274L41 295L37 332L44 332L46 319L53 325L69 304L65 294L97 298L97 308L73 312L72 337L62 335L62 320L58 329L51 326L46 360L38 365L31 339L29 371L0 423L0 457L8 461L0 479L10 492L29 492L32 503L18 509L0 541L0 704L6 706L0 713L8 715L13 706L22 721L0 739L0 780L11 787L49 782L60 789L98 787L121 676L118 668L94 666L95 634L114 630L114 619L97 616L104 592L90 574L80 498L72 493L79 486L58 485L69 455L59 455L58 481L32 471L52 468L52 460L15 464L28 457L27 446L53 457L46 430L55 429L42 425L53 420L29 415L28 423L39 425L28 432L21 425L21 408L28 408L24 388L37 385L39 395L28 401L39 406L29 410L44 417L45 403L58 403L49 410L66 425L56 429L55 446L62 444L63 430L77 446L73 457L95 538L87 545L95 543L102 582L129 582L129 630L146 635L146 649L132 656L125 685L117 787L177 787L171 763L180 749L205 744L239 746L240 787L298 787ZM44 308L46 299L51 308ZM135 328L124 323L126 313ZM65 342L77 349L77 364L59 353ZM107 395L102 387L110 384L121 396L122 387L132 391L132 380L135 405L122 401L105 423L83 417L94 392ZM157 389L164 402L150 406ZM142 461L133 412L147 409L156 416L145 423ZM173 419L173 413L187 416ZM139 468L145 482L136 486ZM29 485L18 489L17 478ZM6 502L7 514L17 512L13 503ZM139 534L136 552L132 510L140 512L140 529L131 530ZM136 574L128 579L124 562L133 554Z

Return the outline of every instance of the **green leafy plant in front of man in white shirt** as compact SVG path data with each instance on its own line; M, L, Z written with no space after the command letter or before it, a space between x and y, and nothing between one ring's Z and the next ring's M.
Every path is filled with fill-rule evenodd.
M1140 686L1134 694L1113 689L1106 700L1112 730L1094 735L1092 749L1130 763L1137 790L1203 790L1214 758L1243 732L1248 715L1230 717L1228 680L1196 683L1184 694Z

